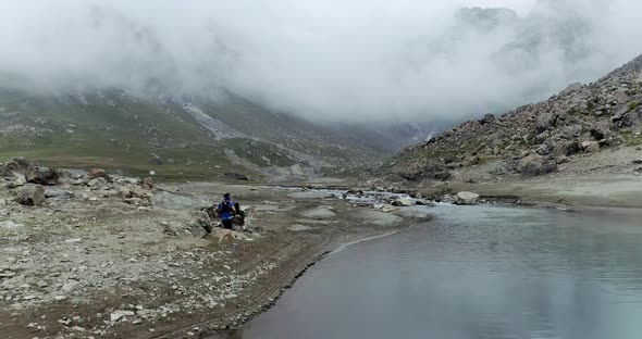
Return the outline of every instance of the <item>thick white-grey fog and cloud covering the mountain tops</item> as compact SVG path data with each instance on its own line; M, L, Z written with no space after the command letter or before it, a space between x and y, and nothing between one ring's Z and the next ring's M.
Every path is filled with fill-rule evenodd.
M497 4L517 11L460 10ZM1 9L3 87L232 92L318 122L502 112L642 52L635 0L32 0Z

